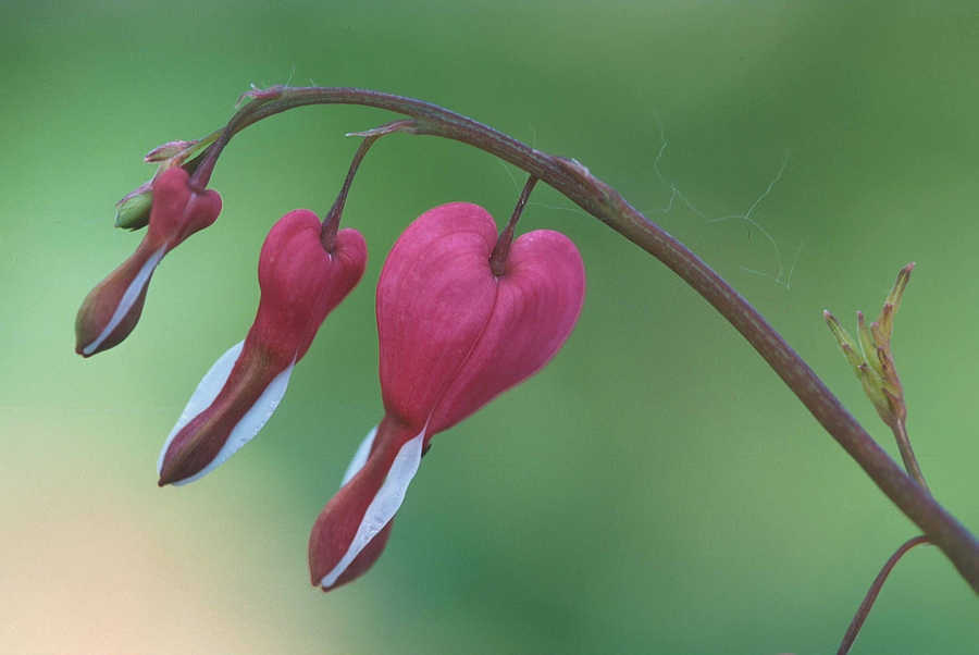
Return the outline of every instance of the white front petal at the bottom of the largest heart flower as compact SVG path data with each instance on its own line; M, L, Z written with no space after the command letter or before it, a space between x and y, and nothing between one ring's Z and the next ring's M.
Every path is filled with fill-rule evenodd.
M350 566L364 546L367 546L370 541L384 529L384 526L394 518L394 515L398 511L398 508L405 500L405 492L408 491L408 483L411 482L411 479L414 478L414 473L418 472L418 465L421 462L422 444L425 441L426 430L427 425L421 431L421 434L409 441L401 446L400 450L398 450L394 464L391 466L391 470L387 471L387 478L385 478L384 484L381 485L377 495L371 500L367 512L363 515L363 519L360 521L360 526L357 528L357 534L354 535L350 547L347 548L343 559L337 563L333 570L320 581L322 586L332 586L343 572L347 570L347 567Z

